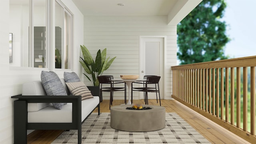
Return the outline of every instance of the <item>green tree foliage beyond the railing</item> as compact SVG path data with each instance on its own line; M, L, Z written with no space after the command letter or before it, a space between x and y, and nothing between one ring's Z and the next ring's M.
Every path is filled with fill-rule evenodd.
M224 0L203 0L177 25L178 59L192 64L227 59L224 46L229 42L226 23L221 20Z

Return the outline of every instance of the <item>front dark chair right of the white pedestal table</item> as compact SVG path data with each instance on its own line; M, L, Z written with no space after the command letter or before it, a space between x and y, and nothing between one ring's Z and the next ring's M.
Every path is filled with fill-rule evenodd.
M143 84L143 87L134 88L132 86L132 92L133 91L144 92L145 104L148 104L148 92L156 92L156 102L158 103L158 98L157 98L157 93L158 93L159 102L161 106L160 91L159 91L159 80L161 77L160 76L144 76L144 78L146 78L146 81L144 82L134 82L134 83ZM154 85L154 87L152 85ZM131 100L132 100L132 95L131 95Z

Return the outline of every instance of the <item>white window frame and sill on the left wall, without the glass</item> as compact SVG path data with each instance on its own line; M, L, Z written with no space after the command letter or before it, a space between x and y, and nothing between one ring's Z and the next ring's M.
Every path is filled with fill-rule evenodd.
M67 12L67 14L70 16L70 48L68 50L68 56L69 56L69 66L68 69L64 68L55 68L55 2L58 2L61 4L61 6L64 8L64 12ZM46 61L46 68L37 68L34 67L34 28L33 28L33 13L34 13L34 0L29 0L29 32L28 32L28 50L29 50L29 64L28 66L9 66L10 70L66 70L70 71L74 68L74 62L73 62L73 48L74 48L74 14L60 1L60 0L46 0L46 6L47 6L47 14L46 14L46 55L47 61ZM64 41L63 41L64 43ZM22 48L22 47L20 47ZM23 56L22 56L23 57ZM22 60L22 59L21 59Z

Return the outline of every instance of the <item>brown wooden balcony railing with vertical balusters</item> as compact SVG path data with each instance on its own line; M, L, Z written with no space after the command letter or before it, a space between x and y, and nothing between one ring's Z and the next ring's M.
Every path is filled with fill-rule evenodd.
M172 98L255 143L256 56L172 66Z

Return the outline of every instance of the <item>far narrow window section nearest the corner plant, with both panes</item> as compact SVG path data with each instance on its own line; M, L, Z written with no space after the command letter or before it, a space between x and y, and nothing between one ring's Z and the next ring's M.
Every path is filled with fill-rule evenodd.
M55 2L55 68L70 69L72 15L58 1Z

